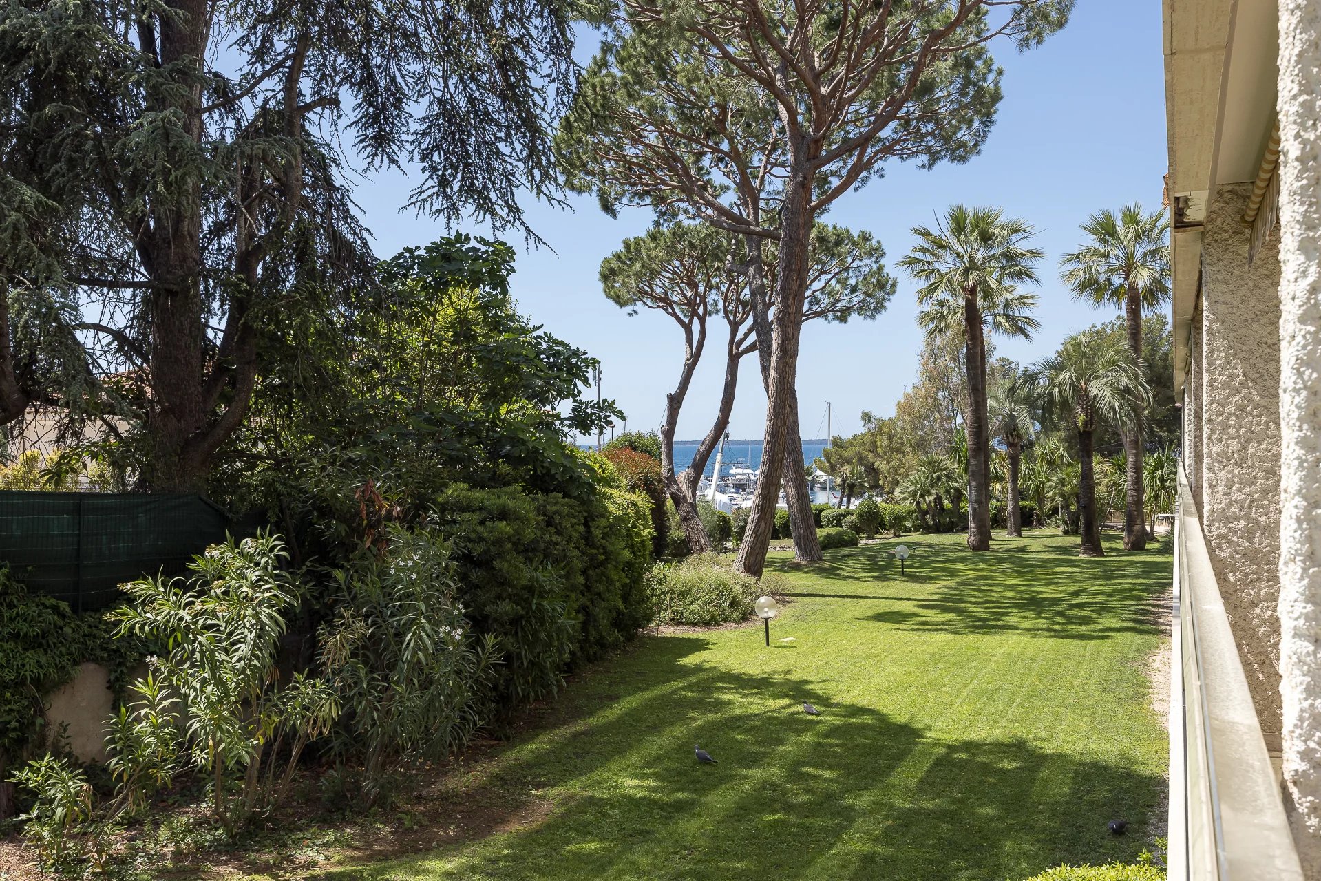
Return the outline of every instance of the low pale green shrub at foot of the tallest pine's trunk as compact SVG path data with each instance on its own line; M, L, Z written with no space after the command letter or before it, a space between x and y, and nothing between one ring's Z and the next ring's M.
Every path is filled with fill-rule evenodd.
M773 575L758 581L736 572L728 560L705 553L654 565L647 593L653 623L708 627L744 621L757 597L783 593L783 585Z

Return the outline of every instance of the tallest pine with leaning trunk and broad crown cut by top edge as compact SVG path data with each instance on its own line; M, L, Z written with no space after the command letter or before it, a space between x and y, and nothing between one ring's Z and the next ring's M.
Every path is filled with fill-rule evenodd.
M624 0L561 123L569 185L778 250L764 462L787 461L814 219L889 159L967 161L1000 100L988 44L1063 26L1071 0ZM754 313L757 305L754 304ZM762 333L762 329L758 329ZM801 470L801 469L795 469ZM760 575L778 481L737 565ZM791 512L794 528L803 511Z

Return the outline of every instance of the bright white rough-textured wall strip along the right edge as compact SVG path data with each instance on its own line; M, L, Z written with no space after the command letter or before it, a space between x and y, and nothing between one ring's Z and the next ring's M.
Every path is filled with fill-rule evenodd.
M1284 782L1321 878L1321 0L1280 0L1279 111Z

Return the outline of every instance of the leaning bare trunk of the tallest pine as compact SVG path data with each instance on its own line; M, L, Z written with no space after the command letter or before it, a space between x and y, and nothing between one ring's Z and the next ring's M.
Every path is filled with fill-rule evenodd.
M802 149L802 144L791 145L791 153ZM766 432L762 441L762 476L753 494L752 515L748 531L738 546L738 559L734 567L746 575L761 577L766 565L766 551L770 547L770 534L775 526L775 501L779 498L779 481L775 479L775 464L785 466L789 449L789 431L797 421L798 390L798 341L802 332L803 297L807 291L807 243L811 232L811 186L812 176L802 159L793 157L791 172L785 182L785 198L781 207L779 267L775 280L775 316L771 322L770 378L766 391ZM801 448L799 448L801 449ZM801 453L799 453L801 456ZM769 469L769 473L768 473ZM798 477L806 482L803 469ZM808 510L810 514L810 510ZM816 543L815 530L804 540ZM799 536L794 536L797 543ZM818 557L820 548L818 546Z

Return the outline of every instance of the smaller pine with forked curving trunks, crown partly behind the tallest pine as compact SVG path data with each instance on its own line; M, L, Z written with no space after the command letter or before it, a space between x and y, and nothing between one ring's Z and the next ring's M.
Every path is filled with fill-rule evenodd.
M675 391L666 395L660 462L666 491L674 501L688 546L695 551L709 549L697 518L697 483L729 425L740 362L760 349L748 296L750 285L744 279L749 269L736 264L738 254L738 239L728 232L709 225L675 223L658 225L642 236L626 239L601 263L601 284L613 302L660 312L683 332L684 359L679 382ZM773 255L771 250L764 271L774 271ZM818 223L812 231L811 255L803 321L875 318L894 295L894 279L882 263L885 250L869 232ZM727 330L724 383L709 431L697 441L688 466L676 473L675 428L705 350L707 325L712 316L720 316ZM801 453L795 458L801 458ZM801 462L798 472L803 472ZM799 556L810 555L811 548L819 553L815 539L815 530L794 536Z

